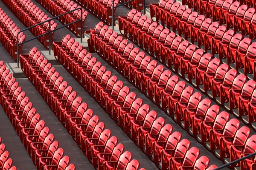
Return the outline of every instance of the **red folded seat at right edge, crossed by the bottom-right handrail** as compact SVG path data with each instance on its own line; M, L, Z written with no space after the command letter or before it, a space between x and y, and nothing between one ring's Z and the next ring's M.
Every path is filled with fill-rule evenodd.
M247 139L246 143L242 145L241 147L232 145L230 147L230 161L234 161L236 159L239 159L241 157L244 157L246 155L249 155L251 153L255 152L256 149L256 142L255 142L255 135L250 136L250 138ZM252 158L253 159L253 158ZM248 164L247 164L248 162ZM242 161L241 163L238 162L237 164L231 165L231 168L235 167L247 167L250 169L250 165L253 161L250 159L246 159L245 161Z

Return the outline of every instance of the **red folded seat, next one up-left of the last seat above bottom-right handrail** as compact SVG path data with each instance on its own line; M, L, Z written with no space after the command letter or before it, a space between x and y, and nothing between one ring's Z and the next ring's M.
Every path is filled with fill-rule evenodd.
M230 158L230 148L236 146L244 146L245 142L250 136L250 129L246 126L237 130L234 138L221 137L220 138L220 158Z

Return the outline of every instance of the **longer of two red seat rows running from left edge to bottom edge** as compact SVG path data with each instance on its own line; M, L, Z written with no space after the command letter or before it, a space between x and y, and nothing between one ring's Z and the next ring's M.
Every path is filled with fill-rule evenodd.
M0 87L0 103L37 169L75 170L3 61L0 62Z

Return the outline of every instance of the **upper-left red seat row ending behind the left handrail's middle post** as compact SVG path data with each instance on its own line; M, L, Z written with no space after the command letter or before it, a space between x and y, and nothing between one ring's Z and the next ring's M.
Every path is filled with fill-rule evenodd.
M42 10L36 6L31 0L3 0L3 3L12 11L13 14L23 23L26 28L34 26L38 23L49 20L47 14L42 12ZM52 20L50 22L50 29L53 31L57 28L57 23ZM39 36L49 32L49 22L35 26L29 31L35 36ZM51 33L51 42L53 39L53 32ZM49 47L49 34L46 34L38 38L38 41L44 45L45 48Z

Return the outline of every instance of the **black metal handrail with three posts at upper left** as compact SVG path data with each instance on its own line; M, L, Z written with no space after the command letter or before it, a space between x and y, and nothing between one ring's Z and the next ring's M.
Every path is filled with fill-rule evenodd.
M81 18L80 18L79 20L76 20L76 21L74 21L74 22L72 22L72 23L66 24L66 25L64 25L64 26L61 26L60 28L56 28L56 29L54 29L54 30L51 31L51 21L52 21L52 20L54 20L54 19L56 19L56 18L58 18L58 17L61 17L61 16L65 15L65 14L69 14L69 13L71 13L71 12L73 12L73 11L79 10L79 9L81 10ZM83 36L82 36L82 34L83 34L83 11L82 11L82 8L81 8L81 7L80 7L80 8L73 9L73 10L71 10L71 11L68 11L68 12L64 13L64 14L58 15L58 16L56 16L56 17L53 17L53 18L49 19L49 20L46 20L46 21L44 21L44 22L41 22L41 23L36 24L35 26L39 26L39 25L41 25L41 24L43 24L43 23L49 22L49 32L44 33L44 34L41 34L41 35L39 35L39 36L37 36L37 37L34 37L34 38L30 39L30 40L21 42L20 44L19 44L19 34L20 34L21 32L23 32L23 31L26 31L26 30L29 30L29 29L31 29L31 28L34 28L35 26L31 26L31 27L29 27L29 28L25 28L25 29L19 31L19 32L17 33L17 67L19 68L19 59L20 59L20 57L19 57L19 45L22 45L22 44L24 44L24 43L26 43L26 42L35 40L35 39L37 39L37 38L39 38L39 37L42 37L42 36L44 36L44 35L46 35L46 34L49 34L49 55L51 55L51 33L54 32L54 31L57 31L57 30L59 30L59 29L61 29L61 28L64 28L64 27L66 27L66 26L69 26L69 25L71 25L71 24L73 24L73 23L77 23L77 22L79 22L79 21L81 21L81 33L80 33L80 38L81 38L81 42L82 42L82 38L83 38Z

